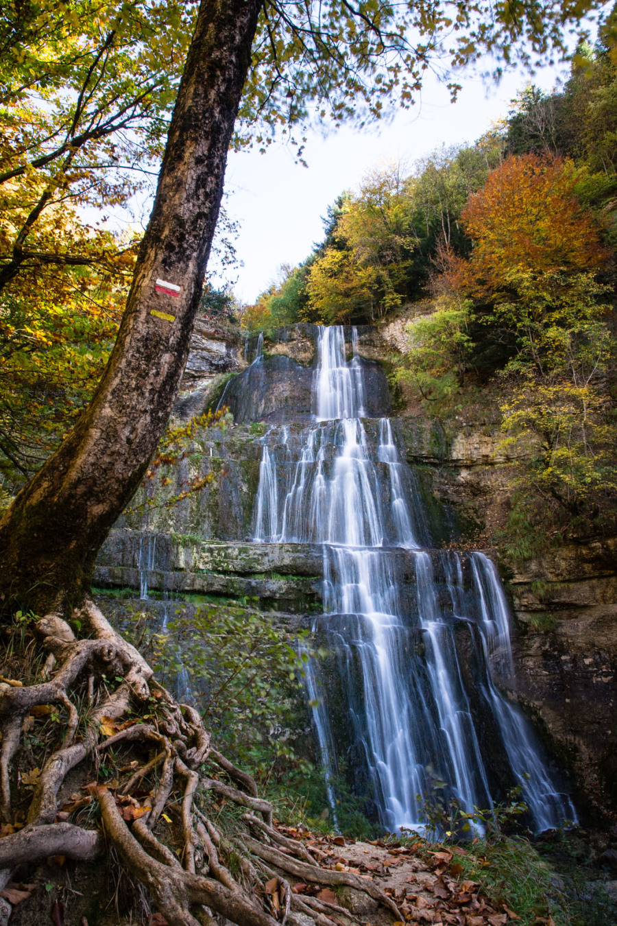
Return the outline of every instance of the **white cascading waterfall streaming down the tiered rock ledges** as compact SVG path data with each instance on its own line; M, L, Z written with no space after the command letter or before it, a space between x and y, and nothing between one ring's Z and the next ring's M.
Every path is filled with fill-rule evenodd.
M330 797L346 751L389 830L422 824L436 782L469 813L520 782L537 831L574 821L530 724L497 685L512 679L512 649L496 570L481 553L428 548L390 421L367 439L365 403L355 331L348 363L343 329L320 328L315 423L267 432L255 502L255 540L323 546L314 631L334 654L336 693L318 665L307 688Z

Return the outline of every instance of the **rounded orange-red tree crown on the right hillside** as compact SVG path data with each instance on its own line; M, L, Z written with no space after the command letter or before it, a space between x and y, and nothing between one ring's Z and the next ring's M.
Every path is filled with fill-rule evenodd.
M577 201L581 173L571 160L509 157L470 196L462 213L474 242L468 261L450 264L447 275L472 294L495 294L517 273L598 269L607 259L598 225Z

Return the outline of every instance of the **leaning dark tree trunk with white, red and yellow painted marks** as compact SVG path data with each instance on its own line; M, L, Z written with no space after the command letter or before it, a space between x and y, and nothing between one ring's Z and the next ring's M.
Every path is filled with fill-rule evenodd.
M78 603L100 545L166 426L189 352L261 5L202 0L116 345L76 428L0 521L5 607L44 613Z

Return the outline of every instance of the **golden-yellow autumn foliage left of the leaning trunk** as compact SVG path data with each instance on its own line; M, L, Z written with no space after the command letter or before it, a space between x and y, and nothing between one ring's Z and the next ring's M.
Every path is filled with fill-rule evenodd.
M0 10L0 469L19 485L90 400L140 233L84 221L147 190L194 6Z

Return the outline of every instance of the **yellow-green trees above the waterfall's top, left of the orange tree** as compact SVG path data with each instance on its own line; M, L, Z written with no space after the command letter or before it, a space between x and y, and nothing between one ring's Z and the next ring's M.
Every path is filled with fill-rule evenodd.
M464 254L461 213L501 160L504 140L488 132L473 146L439 148L411 175L376 169L342 194L326 239L305 263L306 319L374 320L422 294L442 253Z

